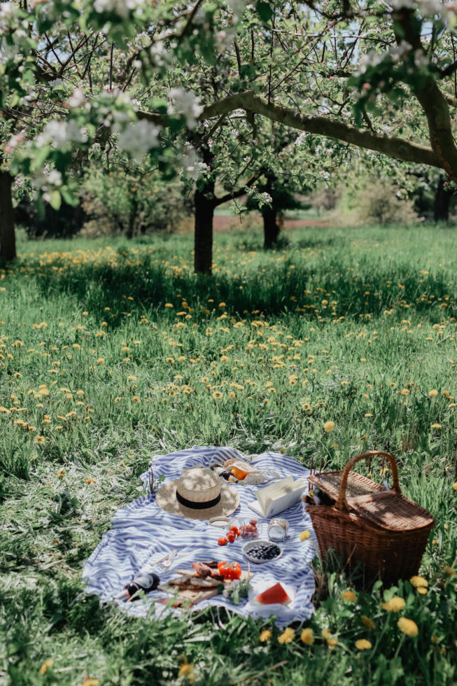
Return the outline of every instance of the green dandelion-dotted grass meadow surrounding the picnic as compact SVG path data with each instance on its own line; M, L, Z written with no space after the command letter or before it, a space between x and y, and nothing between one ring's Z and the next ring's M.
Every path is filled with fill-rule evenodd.
M211 278L192 274L192 237L22 242L0 270L0 683L456 682L455 231L261 242L217 235ZM427 593L400 582L344 600L351 578L318 569L313 645L302 627L279 643L273 622L101 607L85 559L153 455L194 444L325 468L393 452L436 518ZM405 608L381 608L391 596Z

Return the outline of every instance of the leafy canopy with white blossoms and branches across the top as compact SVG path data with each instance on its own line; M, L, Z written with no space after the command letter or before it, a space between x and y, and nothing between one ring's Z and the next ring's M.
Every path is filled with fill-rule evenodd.
M270 120L297 132L303 179L366 151L456 182L456 12L454 0L0 3L1 171L54 207L76 202L87 158L201 186L217 167L235 193L265 167Z

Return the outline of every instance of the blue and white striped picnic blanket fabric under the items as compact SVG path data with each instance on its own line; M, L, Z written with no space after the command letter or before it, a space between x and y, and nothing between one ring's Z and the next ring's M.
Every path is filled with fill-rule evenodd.
M169 455L159 455L153 459L150 469L141 475L141 481L149 490L152 474L155 479L160 475L166 480L178 479L185 468L196 465L209 466L215 461L222 462L230 458L246 459L244 455L227 447L193 447ZM292 476L306 479L309 475L309 470L281 453L262 453L253 458L252 463L260 470L274 470L281 478ZM266 534L268 520L259 519L248 507L248 503L255 499L258 486L236 484L234 487L239 491L240 506L232 517L255 517L259 526L264 525L263 533ZM280 581L286 591L290 590L293 594L293 602L281 606L280 611L275 612L276 623L279 626L294 620L309 619L313 612L311 596L314 593L314 575L309 563L316 551L311 519L304 511L303 503L293 505L280 516L289 522L288 538L281 544L281 558L260 565L251 565L251 571L255 573L251 582L255 592L262 592ZM311 538L300 541L300 533L304 529L311 532ZM164 512L155 503L155 493L148 493L122 507L111 519L111 531L103 535L83 568L83 579L87 580L86 592L99 595L101 601L113 601L113 597L138 576L141 570L153 569L155 561L174 548L178 549L178 553L171 567L167 570L156 569L161 583L176 577L174 569L190 568L190 564L197 561L237 561L241 568L246 569L247 561L241 552L244 541L237 539L232 544L220 547L217 543L220 535L223 535L220 528L211 526L207 521L185 519ZM135 603L113 602L117 602L125 612L137 617L146 617L151 613L158 617L162 613L182 612L153 603L155 598L160 597L166 596L160 591L153 591L148 594L146 603L141 600ZM239 605L234 605L222 595L203 601L192 610L202 610L211 605L223 606L244 617L268 617L272 614L265 605L253 605L251 599L244 598Z

